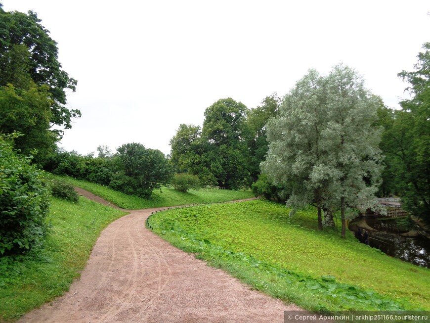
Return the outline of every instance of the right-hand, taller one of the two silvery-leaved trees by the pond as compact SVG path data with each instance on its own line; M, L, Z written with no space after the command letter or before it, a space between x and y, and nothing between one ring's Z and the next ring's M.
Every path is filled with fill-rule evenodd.
M378 207L375 193L382 173L381 131L373 123L379 101L364 88L364 80L343 65L335 66L325 78L324 89L330 121L322 135L328 158L322 171L315 175L336 174L324 199L325 206L341 210L342 237L345 237L348 209Z

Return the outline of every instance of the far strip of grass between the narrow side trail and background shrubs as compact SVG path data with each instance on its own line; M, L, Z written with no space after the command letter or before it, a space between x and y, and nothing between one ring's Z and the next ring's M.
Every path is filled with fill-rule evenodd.
M130 196L109 187L89 183L86 181L76 180L70 177L62 178L75 186L82 187L95 195L98 195L105 200L114 203L115 205L128 209L138 210L153 207L165 207L174 205L199 204L199 203L214 203L239 200L243 198L254 197L251 191L235 191L224 189L199 189L190 190L186 193L179 192L173 188L162 187L161 192L155 190L151 199L143 199L137 196Z

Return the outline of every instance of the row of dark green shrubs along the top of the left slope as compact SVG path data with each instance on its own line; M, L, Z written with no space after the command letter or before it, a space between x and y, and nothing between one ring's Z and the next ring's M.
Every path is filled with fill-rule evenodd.
M145 198L171 181L172 167L160 150L133 142L117 148L118 153L110 156L106 148L99 148L105 157L57 149L46 159L43 169Z

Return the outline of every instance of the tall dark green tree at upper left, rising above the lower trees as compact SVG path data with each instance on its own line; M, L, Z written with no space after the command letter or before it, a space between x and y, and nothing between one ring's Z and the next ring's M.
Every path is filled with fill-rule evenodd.
M71 128L71 119L81 116L66 108L66 90L76 90L77 81L61 69L57 43L33 11L4 11L0 6L0 86L12 84L28 90L31 80L47 87L52 100L50 123ZM61 137L62 131L56 131Z

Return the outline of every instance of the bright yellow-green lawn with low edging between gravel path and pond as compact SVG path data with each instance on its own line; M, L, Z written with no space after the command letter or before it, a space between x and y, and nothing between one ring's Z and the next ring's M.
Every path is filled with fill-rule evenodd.
M308 310L430 310L429 269L351 234L317 231L313 208L288 215L283 205L251 201L165 211L149 225L210 265Z

